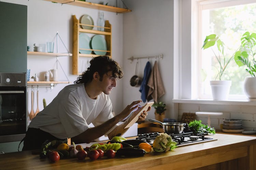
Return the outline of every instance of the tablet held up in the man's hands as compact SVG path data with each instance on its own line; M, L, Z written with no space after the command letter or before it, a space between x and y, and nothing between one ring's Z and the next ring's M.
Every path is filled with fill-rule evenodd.
M139 116L144 112L147 111L149 106L152 106L152 104L154 104L154 102L149 102L146 103L141 109L140 111L135 111L133 112L124 122L124 124L126 124L125 128L129 128L130 126L132 126L135 122L137 122L137 120L139 119ZM138 113L139 112L139 113ZM124 128L124 129L125 129Z

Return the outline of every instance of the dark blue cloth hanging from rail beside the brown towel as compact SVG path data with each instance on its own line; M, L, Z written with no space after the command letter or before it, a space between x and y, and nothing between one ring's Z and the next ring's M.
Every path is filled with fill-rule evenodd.
M141 92L141 99L144 103L146 102L147 94L149 90L149 86L147 85L147 82L150 78L150 74L151 74L151 64L150 62L147 62L144 69L144 76L143 76L142 83L139 90Z

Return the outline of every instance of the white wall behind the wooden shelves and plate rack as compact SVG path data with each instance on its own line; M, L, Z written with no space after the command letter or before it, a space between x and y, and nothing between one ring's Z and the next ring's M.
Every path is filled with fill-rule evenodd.
M94 24L97 24L99 10L73 6L68 4L61 5L60 3L52 3L43 0L1 0L2 2L10 2L23 4L28 6L28 39L27 44L30 46L30 51L33 51L33 44L46 44L47 41L52 41L59 32L65 46L72 53L72 15L76 15L79 19L82 15L90 15ZM109 2L109 1L108 1ZM110 3L111 4L111 1ZM118 2L119 4L119 2ZM112 5L115 5L115 0L112 0ZM123 14L113 12L104 12L105 20L109 20L112 24L112 58L123 67ZM56 46L54 47L56 52ZM46 49L45 49L46 50ZM45 51L46 52L46 51ZM58 52L67 52L59 39ZM90 59L90 58L89 58ZM70 84L76 80L77 75L72 75L72 57L59 57L59 62ZM44 80L44 72L56 68L56 57L50 56L31 56L28 55L28 68L31 69L30 77L35 73L40 75L40 81ZM58 66L59 80L67 80L60 66ZM49 104L58 92L67 84L58 84L51 90L49 87L39 87L39 109L43 109L43 98ZM123 83L122 79L118 80L117 87L110 94L113 103L113 111L120 112L123 109ZM37 87L33 90L36 92ZM34 112L36 110L36 93L34 93ZM28 113L31 110L31 87L28 88Z

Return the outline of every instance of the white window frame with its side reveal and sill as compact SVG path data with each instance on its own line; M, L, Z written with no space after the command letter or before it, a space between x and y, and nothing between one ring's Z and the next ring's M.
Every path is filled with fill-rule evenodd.
M216 104L216 101L213 101L209 98L211 95L208 95L208 99L201 98L199 99L199 69L198 66L201 61L197 62L195 57L201 55L201 44L202 39L199 38L200 35L199 28L201 29L202 18L201 12L206 6L211 6L215 8L216 6L225 7L233 6L239 4L255 3L255 0L181 0L179 3L179 49L177 50L179 56L176 57L175 63L178 64L179 69L174 67L174 103L208 103ZM228 5L229 4L229 5ZM232 4L232 5L230 5ZM221 6L223 5L223 6ZM188 22L187 18L190 18ZM200 20L200 21L199 21ZM198 24L199 23L199 24ZM174 26L175 27L175 26ZM183 29L186 28L186 29ZM198 30L195 32L195 30ZM175 34L175 32L174 32ZM190 38L190 42L188 37ZM196 44L196 45L195 45ZM175 51L175 49L174 49ZM190 55L189 55L190 54ZM201 60L201 57L199 57ZM175 64L174 63L174 64ZM190 63L188 66L185 63ZM177 81L177 82L175 82ZM236 104L248 103L250 105L256 105L247 100L245 95L229 95L228 101L219 101L223 104L230 104L235 102ZM217 103L219 103L217 102Z

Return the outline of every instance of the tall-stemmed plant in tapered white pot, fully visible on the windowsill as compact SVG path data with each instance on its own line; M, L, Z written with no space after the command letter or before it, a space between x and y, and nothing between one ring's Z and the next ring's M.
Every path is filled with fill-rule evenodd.
M218 49L218 54L214 52L212 47L216 44L216 47ZM230 63L230 61L233 59L233 56L228 56L224 53L224 43L219 39L219 37L216 34L211 34L205 37L202 49L210 48L212 49L215 58L219 64L219 67L217 68L217 75L215 77L215 80L210 81L211 89L212 89L212 97L213 100L227 100L228 94L231 86L230 80L222 80L223 75L225 74L225 70L227 68L227 65Z

